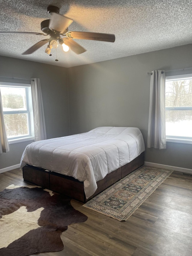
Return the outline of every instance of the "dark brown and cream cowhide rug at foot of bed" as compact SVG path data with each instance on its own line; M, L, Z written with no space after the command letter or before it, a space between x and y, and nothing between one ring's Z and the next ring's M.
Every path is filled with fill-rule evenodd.
M0 192L0 255L61 251L61 232L86 220L65 196L37 186L10 185Z

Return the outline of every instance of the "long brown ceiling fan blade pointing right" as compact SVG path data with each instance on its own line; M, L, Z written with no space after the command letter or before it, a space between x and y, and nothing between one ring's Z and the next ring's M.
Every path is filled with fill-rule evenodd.
M68 38L74 38L74 39L87 39L87 40L97 40L97 41L105 41L105 42L115 42L115 35L113 34L72 31L72 32L67 32L66 36Z

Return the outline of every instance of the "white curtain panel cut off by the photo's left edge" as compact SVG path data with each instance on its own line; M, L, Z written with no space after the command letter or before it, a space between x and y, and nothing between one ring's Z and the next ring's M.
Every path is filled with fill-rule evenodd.
M5 130L3 107L1 101L1 91L0 91L0 154L9 152L9 143L7 140L7 134Z

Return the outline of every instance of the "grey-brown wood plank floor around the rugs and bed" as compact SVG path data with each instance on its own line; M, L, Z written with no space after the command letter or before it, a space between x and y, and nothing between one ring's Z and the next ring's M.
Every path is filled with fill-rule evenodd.
M22 171L0 174L0 190L27 184ZM65 248L38 256L191 256L192 177L174 171L128 218L118 221L82 206L71 205L88 216L70 224L61 234Z

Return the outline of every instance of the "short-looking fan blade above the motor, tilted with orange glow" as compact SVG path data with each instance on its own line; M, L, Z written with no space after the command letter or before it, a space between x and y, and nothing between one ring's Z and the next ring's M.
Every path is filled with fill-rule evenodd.
M62 16L61 14L52 13L49 21L49 29L63 34L72 22L73 20Z

